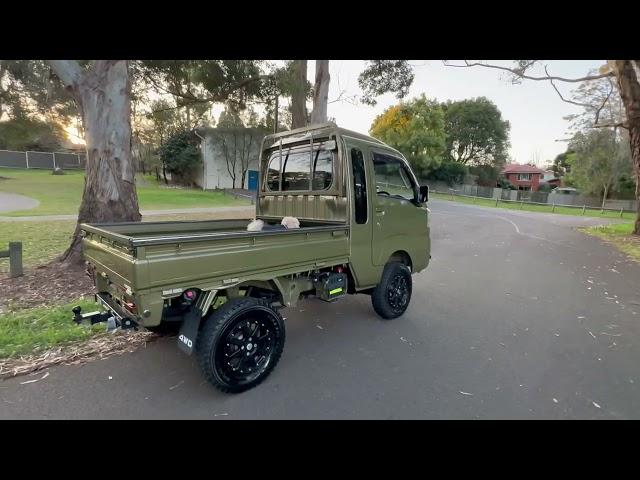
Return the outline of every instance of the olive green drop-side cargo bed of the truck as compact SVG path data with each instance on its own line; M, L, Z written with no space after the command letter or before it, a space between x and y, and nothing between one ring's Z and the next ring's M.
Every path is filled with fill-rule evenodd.
M140 293L220 288L348 262L347 224L301 221L299 229L247 232L248 223L83 224L84 254L109 281Z

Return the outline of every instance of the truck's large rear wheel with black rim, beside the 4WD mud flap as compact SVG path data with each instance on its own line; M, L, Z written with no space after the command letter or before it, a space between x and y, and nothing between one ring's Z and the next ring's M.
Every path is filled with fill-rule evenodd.
M196 356L211 384L239 393L262 382L280 360L285 329L282 316L265 300L229 300L206 319Z

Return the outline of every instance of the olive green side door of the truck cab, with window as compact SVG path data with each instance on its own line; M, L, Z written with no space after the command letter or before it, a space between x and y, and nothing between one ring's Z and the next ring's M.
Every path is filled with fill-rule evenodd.
M373 150L370 171L374 182L372 199L371 262L384 265L398 250L409 255L427 255L426 209L417 203L419 187L407 164L387 152ZM424 253L423 253L424 250Z

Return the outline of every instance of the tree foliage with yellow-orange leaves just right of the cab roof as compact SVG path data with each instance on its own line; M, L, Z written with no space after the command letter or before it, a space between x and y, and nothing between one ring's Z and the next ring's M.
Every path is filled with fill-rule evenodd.
M402 152L418 175L437 168L445 154L444 112L424 94L386 109L370 133Z

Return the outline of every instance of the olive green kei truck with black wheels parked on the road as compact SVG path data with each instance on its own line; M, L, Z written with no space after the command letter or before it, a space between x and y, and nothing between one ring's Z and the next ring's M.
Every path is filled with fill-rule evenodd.
M366 294L384 319L405 312L431 241L428 187L400 152L334 123L268 135L256 195L260 231L246 219L81 225L101 309L75 307L74 321L177 332L205 377L237 393L277 364L283 307Z

